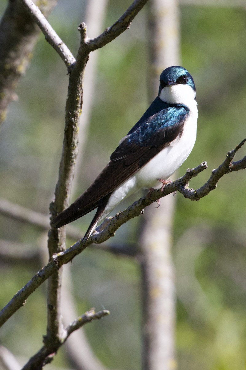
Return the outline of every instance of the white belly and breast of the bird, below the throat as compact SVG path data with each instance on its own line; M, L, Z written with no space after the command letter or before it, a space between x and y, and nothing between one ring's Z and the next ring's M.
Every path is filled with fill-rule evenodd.
M98 222L101 222L119 202L141 188L160 188L162 183L158 179L167 180L183 164L194 147L196 134L197 108L195 107L195 110L190 111L181 137L174 140L153 159L150 159L136 174L115 189Z

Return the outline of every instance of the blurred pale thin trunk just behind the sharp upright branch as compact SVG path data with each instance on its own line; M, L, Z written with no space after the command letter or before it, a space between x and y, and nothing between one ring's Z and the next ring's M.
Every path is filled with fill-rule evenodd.
M108 0L101 0L99 3L97 0L90 0L87 2L85 20L88 30L90 30L90 33L93 33L91 36L100 34L101 29L103 29L107 3ZM87 131L90 125L91 110L94 103L92 97L95 91L97 59L97 52L90 54L90 59L86 65L86 73L84 75L83 114L80 116L79 124L79 154L76 161L71 198L80 182L81 168L83 166ZM67 264L63 269L64 281L62 284L61 304L64 323L69 323L73 317L77 316L73 297L71 268L72 265ZM81 350L82 348L83 351ZM66 353L77 370L107 370L103 363L96 357L96 354L94 354L83 328L76 330L72 336L69 336L66 341Z

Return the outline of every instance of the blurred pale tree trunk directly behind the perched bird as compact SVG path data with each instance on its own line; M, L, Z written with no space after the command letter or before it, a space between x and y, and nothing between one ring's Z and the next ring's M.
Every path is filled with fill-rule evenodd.
M150 101L159 75L179 64L179 18L176 0L151 0L148 12ZM158 209L145 209L139 246L142 252L143 369L171 370L175 361L175 286L171 259L174 196L162 198Z

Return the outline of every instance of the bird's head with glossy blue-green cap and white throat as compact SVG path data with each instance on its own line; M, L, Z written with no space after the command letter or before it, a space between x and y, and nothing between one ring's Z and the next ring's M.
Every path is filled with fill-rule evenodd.
M179 65L166 68L160 75L158 97L169 104L194 104L195 84L190 73Z

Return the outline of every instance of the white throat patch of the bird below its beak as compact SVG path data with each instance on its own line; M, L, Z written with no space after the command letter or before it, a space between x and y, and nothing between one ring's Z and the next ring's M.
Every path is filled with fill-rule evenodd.
M166 86L160 92L159 98L169 104L187 105L191 110L194 108L194 105L197 105L195 91L189 85L177 84Z

